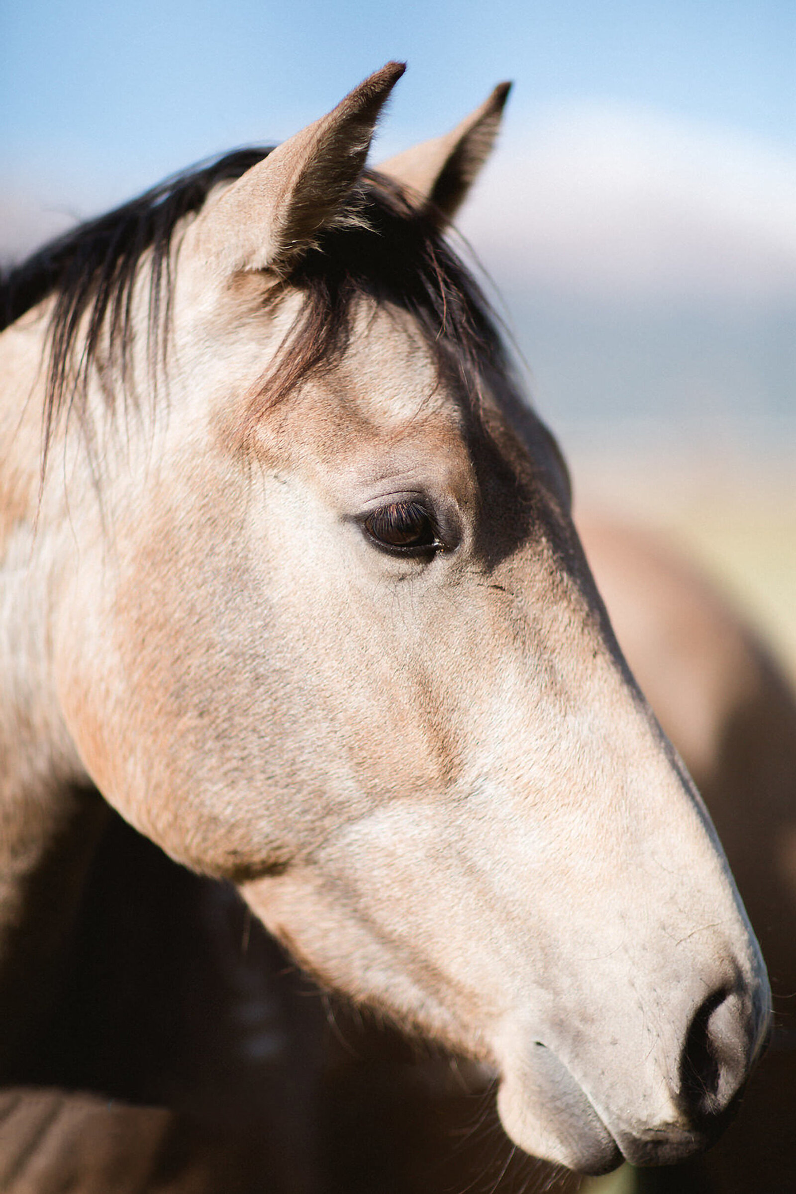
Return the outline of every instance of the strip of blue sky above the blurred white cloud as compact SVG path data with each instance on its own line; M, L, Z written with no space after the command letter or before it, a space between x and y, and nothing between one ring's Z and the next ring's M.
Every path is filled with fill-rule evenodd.
M796 140L792 0L2 0L0 47L4 168L128 189L287 136L390 57L387 148L504 78L514 123L589 100Z

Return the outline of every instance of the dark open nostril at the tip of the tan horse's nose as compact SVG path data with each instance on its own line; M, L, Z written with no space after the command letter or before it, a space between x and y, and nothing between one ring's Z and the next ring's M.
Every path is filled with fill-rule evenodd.
M680 1059L680 1098L694 1128L723 1130L743 1084L748 1026L737 993L723 987L697 1009Z

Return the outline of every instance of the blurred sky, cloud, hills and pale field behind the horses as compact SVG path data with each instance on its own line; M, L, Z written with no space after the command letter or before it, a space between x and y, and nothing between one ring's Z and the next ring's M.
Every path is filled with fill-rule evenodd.
M375 162L515 80L460 228L578 503L679 538L796 670L792 0L1 0L0 256L391 57Z

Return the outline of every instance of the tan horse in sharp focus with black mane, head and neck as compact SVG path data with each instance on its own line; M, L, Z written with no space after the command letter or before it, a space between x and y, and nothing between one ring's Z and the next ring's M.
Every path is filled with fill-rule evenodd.
M445 241L507 87L369 171L403 69L4 281L0 1071L99 792L320 984L491 1066L521 1150L671 1163L737 1102L766 971Z

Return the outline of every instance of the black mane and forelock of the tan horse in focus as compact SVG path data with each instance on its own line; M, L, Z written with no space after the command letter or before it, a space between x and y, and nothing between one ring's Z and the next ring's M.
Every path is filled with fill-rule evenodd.
M102 337L124 386L133 291L145 253L151 256L148 352L154 387L169 327L174 229L200 210L214 186L239 178L269 152L237 149L174 174L50 241L0 276L0 331L43 298L56 296L48 328L45 455L54 420L65 406L78 404L81 413L80 399ZM453 350L465 378L486 362L502 365L486 300L434 222L418 215L399 187L369 171L351 202L357 219L322 232L288 279L304 290L306 302L283 346L278 374L270 378L271 400L339 358L348 344L351 300L363 294L409 310L429 344L437 351L442 345Z

